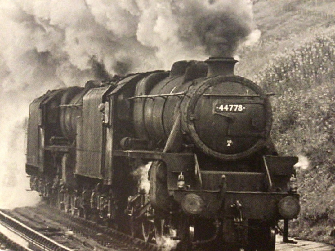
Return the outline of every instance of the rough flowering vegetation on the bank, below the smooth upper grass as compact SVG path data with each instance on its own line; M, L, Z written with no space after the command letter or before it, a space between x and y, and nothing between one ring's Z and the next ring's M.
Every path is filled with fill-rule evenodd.
M272 137L280 154L306 156L297 174L302 210L294 235L334 244L335 35L285 51L254 76L272 98Z

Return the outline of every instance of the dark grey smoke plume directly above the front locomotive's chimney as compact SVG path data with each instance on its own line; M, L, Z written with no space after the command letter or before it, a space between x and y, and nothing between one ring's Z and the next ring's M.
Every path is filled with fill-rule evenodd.
M193 41L191 45L200 44L210 56L233 56L253 27L250 1L189 1L177 11L185 47Z

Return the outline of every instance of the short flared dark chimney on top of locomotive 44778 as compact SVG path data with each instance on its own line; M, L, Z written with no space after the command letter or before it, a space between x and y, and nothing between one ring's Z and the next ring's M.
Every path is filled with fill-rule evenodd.
M212 57L205 61L208 65L207 77L234 75L234 66L238 61L233 58Z

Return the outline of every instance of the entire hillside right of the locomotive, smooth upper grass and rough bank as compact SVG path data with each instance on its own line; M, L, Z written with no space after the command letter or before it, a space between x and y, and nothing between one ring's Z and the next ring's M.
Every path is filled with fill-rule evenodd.
M302 210L292 234L335 244L335 1L258 0L259 43L239 51L237 73L272 98L280 154L306 156L297 173Z

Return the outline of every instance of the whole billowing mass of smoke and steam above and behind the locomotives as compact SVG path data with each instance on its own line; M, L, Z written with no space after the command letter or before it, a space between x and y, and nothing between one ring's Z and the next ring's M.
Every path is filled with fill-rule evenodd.
M25 175L32 99L92 78L231 56L252 28L250 0L0 0L0 193L10 183L23 190L16 178Z

